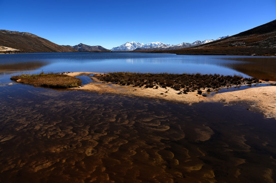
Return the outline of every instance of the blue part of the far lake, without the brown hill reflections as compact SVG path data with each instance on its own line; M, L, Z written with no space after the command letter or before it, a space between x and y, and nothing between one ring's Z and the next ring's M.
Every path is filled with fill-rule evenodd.
M241 75L229 65L237 60L218 59L224 56L175 55L160 53L28 53L0 55L0 64L24 62L48 63L44 72L141 72L141 73L201 73ZM228 58L231 56L225 56ZM38 71L36 71L38 72Z

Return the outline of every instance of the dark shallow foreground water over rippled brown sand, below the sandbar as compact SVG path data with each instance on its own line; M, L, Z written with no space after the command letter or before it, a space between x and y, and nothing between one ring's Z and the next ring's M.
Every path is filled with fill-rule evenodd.
M22 90L20 99L2 93L1 182L275 178L275 121L241 108L43 88Z

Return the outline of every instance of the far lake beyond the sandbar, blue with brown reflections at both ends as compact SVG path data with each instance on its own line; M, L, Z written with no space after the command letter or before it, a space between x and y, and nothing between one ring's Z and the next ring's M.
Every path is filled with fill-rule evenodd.
M241 75L276 80L276 57L161 53L23 53L0 55L0 73L140 72Z

